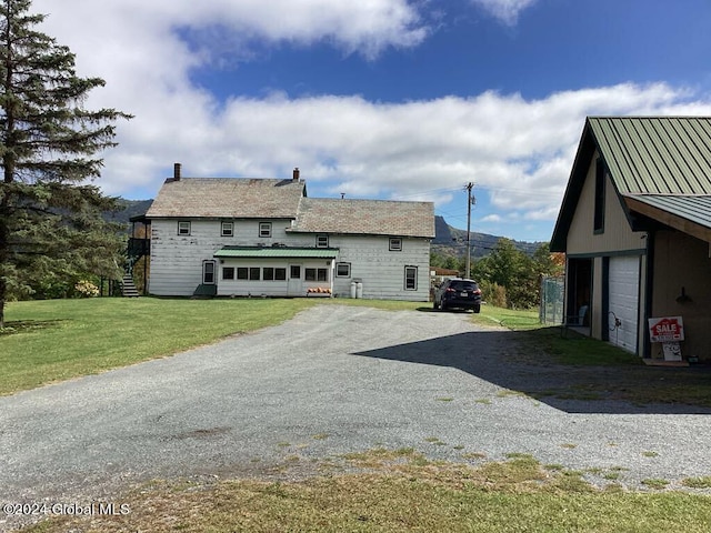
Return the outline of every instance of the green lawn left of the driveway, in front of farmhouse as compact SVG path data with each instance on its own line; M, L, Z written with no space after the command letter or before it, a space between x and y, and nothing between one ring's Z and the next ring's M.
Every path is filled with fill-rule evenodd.
M0 394L170 355L278 324L313 300L93 298L12 302Z

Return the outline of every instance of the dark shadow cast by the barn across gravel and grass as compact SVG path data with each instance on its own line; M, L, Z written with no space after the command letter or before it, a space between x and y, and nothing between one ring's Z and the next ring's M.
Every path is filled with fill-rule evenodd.
M569 413L711 414L708 366L660 369L628 355L608 364L604 358L599 364L567 364L544 349L535 332L459 333L353 355L455 368Z

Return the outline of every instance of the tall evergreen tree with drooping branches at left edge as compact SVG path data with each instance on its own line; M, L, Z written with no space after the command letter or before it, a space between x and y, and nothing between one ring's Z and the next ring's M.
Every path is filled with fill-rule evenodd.
M47 276L107 273L117 239L100 212L114 208L90 181L96 154L116 145L112 123L130 115L89 111L100 78L79 78L69 48L34 28L30 0L0 0L0 328L10 293Z

